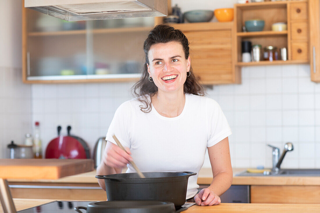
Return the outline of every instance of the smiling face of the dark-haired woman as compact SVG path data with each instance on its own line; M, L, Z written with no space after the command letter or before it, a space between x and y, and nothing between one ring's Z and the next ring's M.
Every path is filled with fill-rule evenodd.
M179 42L152 45L148 58L148 73L159 92L180 90L183 92L183 84L190 70L190 57L185 59L182 45Z

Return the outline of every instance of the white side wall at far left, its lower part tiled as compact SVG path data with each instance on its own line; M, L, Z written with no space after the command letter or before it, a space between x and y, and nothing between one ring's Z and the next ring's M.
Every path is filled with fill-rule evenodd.
M21 76L21 1L0 1L0 158L31 131L31 86Z

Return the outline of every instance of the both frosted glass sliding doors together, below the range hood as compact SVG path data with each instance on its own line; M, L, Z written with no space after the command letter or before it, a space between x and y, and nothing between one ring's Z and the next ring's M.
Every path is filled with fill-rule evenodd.
M27 80L135 78L154 18L65 21L26 9Z

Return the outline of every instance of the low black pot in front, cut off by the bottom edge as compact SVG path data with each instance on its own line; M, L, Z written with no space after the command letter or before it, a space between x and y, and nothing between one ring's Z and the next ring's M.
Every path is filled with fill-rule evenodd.
M88 207L75 208L82 213L79 209L85 209L86 213L177 213L188 208L176 211L172 202L161 201L100 201L89 203Z

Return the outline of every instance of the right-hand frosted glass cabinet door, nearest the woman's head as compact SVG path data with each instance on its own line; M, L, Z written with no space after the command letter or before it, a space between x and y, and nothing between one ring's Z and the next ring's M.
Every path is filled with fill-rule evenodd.
M93 25L92 54L88 54L93 56L90 74L99 75L91 77L139 77L145 58L143 42L153 22L153 18L88 22L88 25ZM112 28L114 26L117 28Z

